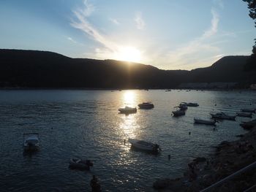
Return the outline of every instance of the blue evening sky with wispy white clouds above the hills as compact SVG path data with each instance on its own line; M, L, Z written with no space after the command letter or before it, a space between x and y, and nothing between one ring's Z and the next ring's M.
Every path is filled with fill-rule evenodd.
M0 0L0 48L191 70L250 55L248 13L242 0Z

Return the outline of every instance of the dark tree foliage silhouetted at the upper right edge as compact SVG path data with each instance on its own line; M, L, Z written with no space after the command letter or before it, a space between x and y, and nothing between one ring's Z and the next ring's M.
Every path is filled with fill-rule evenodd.
M248 4L249 9L249 16L255 20L255 27L256 27L256 0L243 0ZM245 69L255 69L256 70L256 39L255 39L255 45L252 46L252 55L251 58L249 58Z

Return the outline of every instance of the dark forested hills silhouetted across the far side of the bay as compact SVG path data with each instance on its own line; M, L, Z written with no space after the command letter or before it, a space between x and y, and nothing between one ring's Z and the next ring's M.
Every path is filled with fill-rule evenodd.
M0 49L0 87L176 88L181 82L248 82L248 56L227 56L192 71L162 70L124 61L69 58L37 50ZM254 79L255 80L255 79Z

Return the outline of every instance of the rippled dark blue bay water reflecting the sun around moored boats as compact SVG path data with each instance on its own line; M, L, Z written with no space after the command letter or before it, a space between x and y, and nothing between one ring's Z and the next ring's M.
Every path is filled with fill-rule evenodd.
M142 101L155 108L118 114L119 107ZM200 106L174 118L171 111L181 101ZM180 177L188 161L236 139L244 133L239 122L249 120L224 120L214 131L194 125L194 117L255 106L256 92L250 91L0 91L1 191L89 191L92 174L103 191L154 191L156 178ZM23 155L23 133L29 132L39 133L40 150ZM157 142L162 153L130 150L123 142L129 137ZM70 170L71 157L90 158L94 167Z

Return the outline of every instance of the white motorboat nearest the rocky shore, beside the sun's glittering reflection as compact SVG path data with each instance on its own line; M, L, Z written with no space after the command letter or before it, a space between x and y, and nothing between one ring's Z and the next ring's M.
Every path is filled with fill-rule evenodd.
M158 152L160 149L159 145L152 142L145 142L139 139L128 139L128 142L132 144L132 147L135 147L139 150L146 150L151 152Z

